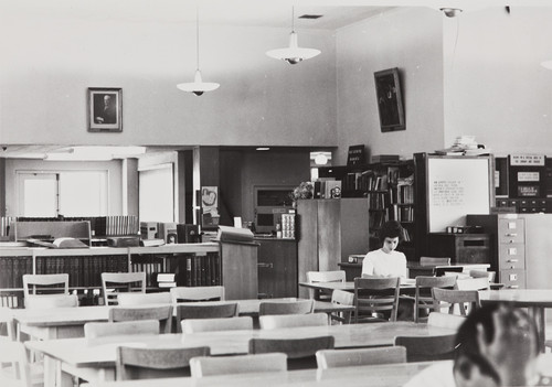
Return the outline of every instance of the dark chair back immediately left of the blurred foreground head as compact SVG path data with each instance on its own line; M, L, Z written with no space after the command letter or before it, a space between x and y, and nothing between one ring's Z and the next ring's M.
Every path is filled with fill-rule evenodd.
M396 336L395 345L406 347L407 362L433 362L454 358L456 334L440 336Z

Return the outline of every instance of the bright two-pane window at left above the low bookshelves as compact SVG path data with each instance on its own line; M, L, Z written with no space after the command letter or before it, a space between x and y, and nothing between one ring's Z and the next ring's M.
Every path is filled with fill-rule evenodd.
M19 215L107 215L107 171L18 172Z

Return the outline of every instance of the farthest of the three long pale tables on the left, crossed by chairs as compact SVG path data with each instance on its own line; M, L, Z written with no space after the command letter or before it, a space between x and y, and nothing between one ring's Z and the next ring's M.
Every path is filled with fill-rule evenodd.
M236 300L241 315L257 316L261 302L289 301L296 299L268 299L268 300ZM209 302L180 302L180 304L213 304L217 302L232 301L209 301ZM161 304L151 304L159 307ZM140 308L147 305L125 307ZM84 324L87 322L105 322L108 320L109 309L120 307L78 307L78 308L55 308L55 309L14 309L12 316L21 329L33 337L41 340L83 337ZM315 301L315 312L348 312L354 310L353 307L336 305L330 302Z

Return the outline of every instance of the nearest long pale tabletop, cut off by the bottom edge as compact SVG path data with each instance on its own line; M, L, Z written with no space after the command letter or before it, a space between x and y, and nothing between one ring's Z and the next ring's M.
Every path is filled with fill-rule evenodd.
M254 373L203 378L164 378L100 383L98 387L193 387L193 386L402 386L431 362L340 367L326 370L300 369L284 373Z

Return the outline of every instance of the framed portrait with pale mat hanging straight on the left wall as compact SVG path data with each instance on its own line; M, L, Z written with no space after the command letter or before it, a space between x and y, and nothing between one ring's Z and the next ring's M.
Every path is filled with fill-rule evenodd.
M123 131L123 89L88 87L88 131Z

